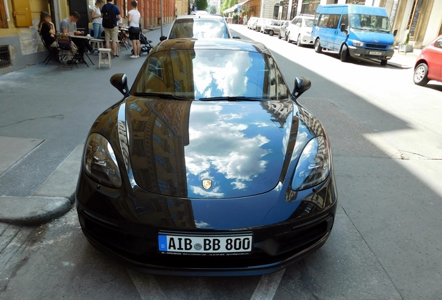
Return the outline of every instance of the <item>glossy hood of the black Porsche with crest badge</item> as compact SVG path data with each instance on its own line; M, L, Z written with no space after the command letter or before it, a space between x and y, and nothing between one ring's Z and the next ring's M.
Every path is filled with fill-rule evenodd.
M268 192L279 183L296 107L129 97L133 178L143 190L190 199Z

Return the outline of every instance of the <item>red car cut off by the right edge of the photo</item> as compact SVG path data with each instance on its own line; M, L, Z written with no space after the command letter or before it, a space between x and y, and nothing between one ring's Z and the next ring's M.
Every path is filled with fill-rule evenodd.
M414 83L426 85L430 80L442 82L442 35L422 50L414 65Z

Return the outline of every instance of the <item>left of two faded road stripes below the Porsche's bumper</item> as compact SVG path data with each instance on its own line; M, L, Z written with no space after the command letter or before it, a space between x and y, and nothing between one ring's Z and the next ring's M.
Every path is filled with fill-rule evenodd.
M154 276L142 274L131 269L127 269L127 272L143 300L167 300Z

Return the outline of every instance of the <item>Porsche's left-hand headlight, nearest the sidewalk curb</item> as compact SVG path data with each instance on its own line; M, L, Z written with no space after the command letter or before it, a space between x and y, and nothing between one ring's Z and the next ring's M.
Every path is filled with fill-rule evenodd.
M92 180L110 188L121 187L120 169L108 140L99 133L89 135L83 155L83 166Z

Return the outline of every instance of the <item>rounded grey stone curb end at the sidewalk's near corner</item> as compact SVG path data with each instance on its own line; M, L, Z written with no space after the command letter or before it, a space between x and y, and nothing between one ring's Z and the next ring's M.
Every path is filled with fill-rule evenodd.
M64 215L71 208L71 199L65 197L0 197L0 222L40 225Z

